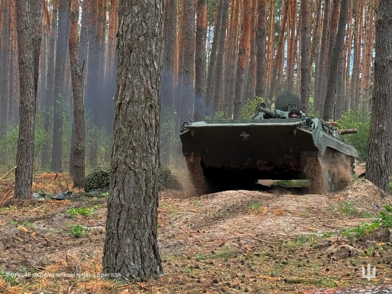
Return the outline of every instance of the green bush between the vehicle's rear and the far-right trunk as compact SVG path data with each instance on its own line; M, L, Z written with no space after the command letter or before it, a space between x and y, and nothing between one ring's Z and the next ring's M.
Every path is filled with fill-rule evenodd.
M370 116L361 111L346 111L338 120L340 129L357 128L357 134L343 135L346 143L354 146L358 150L359 160L366 160L368 156L368 138L370 129Z

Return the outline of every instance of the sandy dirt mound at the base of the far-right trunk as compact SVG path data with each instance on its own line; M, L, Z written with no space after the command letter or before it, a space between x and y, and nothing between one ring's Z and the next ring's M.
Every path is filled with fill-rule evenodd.
M391 196L364 178L349 183L336 198L350 201L358 208L366 210L380 210L383 205L391 202Z

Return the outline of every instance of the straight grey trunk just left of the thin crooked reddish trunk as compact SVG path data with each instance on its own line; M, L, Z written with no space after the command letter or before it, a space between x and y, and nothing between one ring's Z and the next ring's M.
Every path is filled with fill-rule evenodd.
M69 11L68 0L59 0L58 10L58 36L56 46L56 69L54 79L53 103L53 144L51 170L62 172L61 159L63 154L63 102L64 102L64 75L68 49Z

